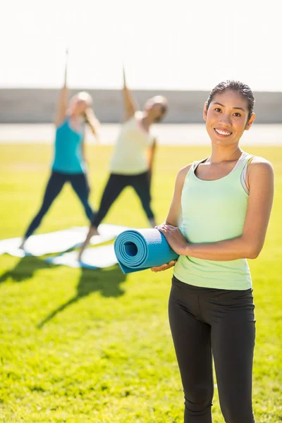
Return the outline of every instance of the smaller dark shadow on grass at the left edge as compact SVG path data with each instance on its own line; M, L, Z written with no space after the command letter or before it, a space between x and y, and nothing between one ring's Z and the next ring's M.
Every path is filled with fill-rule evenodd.
M54 267L54 265L44 262L38 257L25 256L17 262L16 266L1 274L0 283L8 281L9 278L13 279L13 282L23 282L35 276L37 270L50 269L51 267Z

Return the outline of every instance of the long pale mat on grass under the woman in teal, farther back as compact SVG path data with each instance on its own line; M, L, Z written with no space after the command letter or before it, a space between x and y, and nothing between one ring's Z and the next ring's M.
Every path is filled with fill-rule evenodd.
M128 229L125 226L110 225L102 223L99 225L100 235L92 237L91 245L106 243L114 240L116 236ZM25 250L19 248L21 238L11 238L0 241L0 255L5 252L15 257L25 257L26 255L41 256L54 252L64 252L72 248L79 247L85 240L88 226L74 227L64 231L43 233L42 235L32 235L25 244Z

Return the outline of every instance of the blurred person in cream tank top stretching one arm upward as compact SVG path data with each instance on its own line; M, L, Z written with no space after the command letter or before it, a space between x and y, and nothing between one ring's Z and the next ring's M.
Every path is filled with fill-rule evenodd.
M137 104L126 85L123 68L123 104L125 122L121 127L121 133L111 157L109 180L104 188L99 210L92 220L78 259L81 259L82 252L92 236L99 234L97 230L99 224L125 187L131 186L134 188L147 215L149 225L152 228L156 225L154 212L151 208L150 185L157 142L151 133L151 126L164 118L168 109L168 102L165 97L157 95L147 100L144 111L138 110Z

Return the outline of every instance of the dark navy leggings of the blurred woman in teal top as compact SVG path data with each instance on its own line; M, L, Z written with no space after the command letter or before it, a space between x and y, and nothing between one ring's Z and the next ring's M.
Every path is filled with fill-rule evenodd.
M82 202L82 206L85 209L85 214L87 218L92 221L93 211L88 202L90 189L87 183L85 173L61 173L52 171L44 193L42 206L40 207L39 212L37 213L35 218L30 223L30 226L27 228L25 238L28 238L30 235L32 235L35 229L38 228L39 224L42 221L42 218L48 212L49 208L51 207L51 204L59 195L61 189L63 188L63 185L66 182L71 183L73 190L75 190L75 193L78 195L78 198Z

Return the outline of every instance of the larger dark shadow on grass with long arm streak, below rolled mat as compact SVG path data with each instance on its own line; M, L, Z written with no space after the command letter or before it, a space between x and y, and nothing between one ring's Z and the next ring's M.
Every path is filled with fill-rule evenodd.
M53 312L49 313L42 321L37 324L38 329L42 329L44 324L53 319L56 314L63 312L68 306L78 302L80 298L87 297L90 293L99 291L104 297L119 297L124 294L120 284L125 281L126 276L122 273L119 266L112 266L110 269L83 269L77 286L76 295L63 303Z

